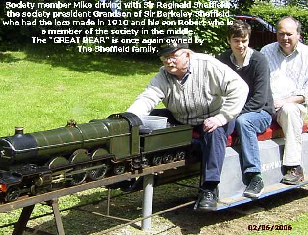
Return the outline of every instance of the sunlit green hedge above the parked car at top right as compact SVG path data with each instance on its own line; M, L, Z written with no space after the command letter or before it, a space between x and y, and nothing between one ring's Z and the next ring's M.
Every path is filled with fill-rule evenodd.
M296 6L273 7L271 3L256 2L248 14L258 16L270 24L276 22L283 16L293 16L302 23L302 36L308 43L308 10Z

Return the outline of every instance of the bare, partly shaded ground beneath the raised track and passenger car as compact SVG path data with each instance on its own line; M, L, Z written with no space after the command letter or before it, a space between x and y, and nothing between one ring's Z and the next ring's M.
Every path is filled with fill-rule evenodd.
M195 183L198 184L198 180ZM99 193L95 192L96 198ZM154 188L153 213L195 200L196 195L196 189L176 184ZM84 199L93 195L91 192L82 192L76 196ZM196 212L190 205L153 217L150 232L141 231L141 222L137 222L108 234L244 235L250 232L248 225L279 225L283 221L295 220L299 215L308 212L306 205L308 205L308 186L222 211ZM106 203L83 206L82 209L106 214ZM110 215L112 216L133 220L140 217L141 211L141 192L123 195L110 201ZM61 217L66 235L99 235L101 231L121 224L113 219L77 210L61 212ZM30 221L28 225L56 234L52 216ZM24 233L24 235L30 235L30 233Z

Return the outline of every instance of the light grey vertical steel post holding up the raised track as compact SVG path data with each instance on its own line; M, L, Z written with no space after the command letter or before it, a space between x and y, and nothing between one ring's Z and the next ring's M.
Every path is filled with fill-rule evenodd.
M142 217L152 214L152 201L153 201L153 175L146 175L143 179L143 205ZM146 232L151 230L151 217L142 220L141 229Z

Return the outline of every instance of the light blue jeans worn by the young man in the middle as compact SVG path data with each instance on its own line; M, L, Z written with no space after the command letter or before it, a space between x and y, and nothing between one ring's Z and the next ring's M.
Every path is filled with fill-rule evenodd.
M249 112L236 118L236 130L242 146L243 173L261 172L257 133L262 133L272 122L272 116L264 110Z

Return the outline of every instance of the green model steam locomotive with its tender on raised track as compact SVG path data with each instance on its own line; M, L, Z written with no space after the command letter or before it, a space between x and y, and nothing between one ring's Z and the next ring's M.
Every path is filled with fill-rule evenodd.
M184 159L190 125L140 134L140 118L120 113L106 119L0 138L0 201L100 180L129 170Z

